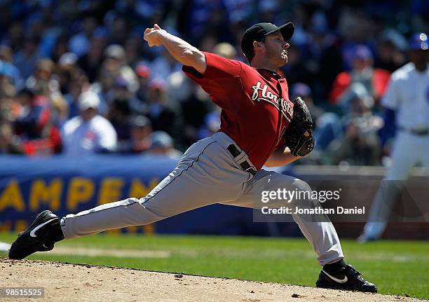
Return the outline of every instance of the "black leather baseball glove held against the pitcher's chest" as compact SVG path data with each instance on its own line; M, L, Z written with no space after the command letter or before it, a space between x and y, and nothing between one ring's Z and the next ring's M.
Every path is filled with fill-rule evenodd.
M314 148L314 123L306 103L297 97L293 100L294 115L285 132L286 144L293 156L306 156ZM306 135L306 131L309 135Z

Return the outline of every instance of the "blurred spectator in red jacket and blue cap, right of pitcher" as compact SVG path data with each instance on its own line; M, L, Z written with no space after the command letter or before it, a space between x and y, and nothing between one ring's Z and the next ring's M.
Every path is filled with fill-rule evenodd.
M383 69L374 69L374 59L371 50L363 44L355 46L350 53L351 71L343 71L334 81L332 90L329 93L331 104L345 104L345 98L342 98L354 83L360 83L378 102L384 94L390 78L390 72Z

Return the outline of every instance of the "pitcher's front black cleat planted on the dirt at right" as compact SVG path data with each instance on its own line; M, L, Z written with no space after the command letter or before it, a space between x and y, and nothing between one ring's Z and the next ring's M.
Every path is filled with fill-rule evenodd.
M319 279L316 281L316 287L376 293L376 285L368 282L360 277L360 275L362 274L350 265L339 268L339 270L336 270L334 273L327 273L322 269L319 274Z

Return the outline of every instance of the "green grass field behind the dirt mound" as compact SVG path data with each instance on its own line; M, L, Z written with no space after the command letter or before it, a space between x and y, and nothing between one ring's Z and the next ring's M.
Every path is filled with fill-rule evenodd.
M12 242L15 236L0 233L0 241ZM376 283L381 294L429 298L429 242L385 240L359 245L354 240L342 240L342 245L346 261ZM170 252L170 257L116 258L39 253L29 259L308 286L314 286L320 271L311 245L301 238L94 235L64 240L57 246L161 250ZM0 256L5 255L0 252Z

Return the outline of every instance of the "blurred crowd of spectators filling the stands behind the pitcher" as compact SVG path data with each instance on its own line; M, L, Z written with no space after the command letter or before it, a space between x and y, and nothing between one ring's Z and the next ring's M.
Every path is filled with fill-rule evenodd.
M428 32L428 1L0 1L0 153L157 153L179 158L219 129L220 112L163 48L158 23L200 50L242 60L255 22L292 21L282 68L316 121L304 163L380 165L380 99Z

